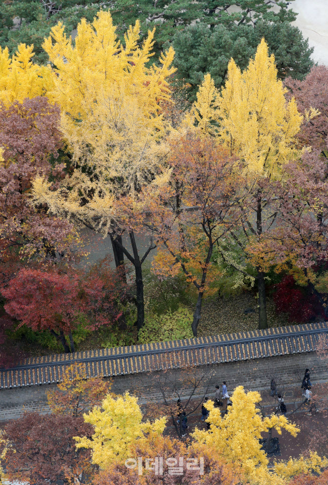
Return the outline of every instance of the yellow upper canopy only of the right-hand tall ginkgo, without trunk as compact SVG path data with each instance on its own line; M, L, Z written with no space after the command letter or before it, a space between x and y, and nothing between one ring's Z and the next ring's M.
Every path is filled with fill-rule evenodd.
M199 130L215 134L244 162L251 176L277 176L281 165L295 156L295 136L302 115L296 101L286 102L286 90L277 78L275 58L262 39L255 58L241 73L233 59L221 94L210 74L200 86L192 108ZM215 121L215 129L209 121Z

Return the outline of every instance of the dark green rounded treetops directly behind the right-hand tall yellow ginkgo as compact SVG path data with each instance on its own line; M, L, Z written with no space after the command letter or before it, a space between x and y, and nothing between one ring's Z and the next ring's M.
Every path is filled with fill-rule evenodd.
M224 84L232 57L242 71L246 69L262 37L268 44L269 53L275 55L279 77L302 79L309 72L313 65L313 48L308 47L302 32L288 22L268 24L260 21L255 28L221 24L212 29L206 23L198 23L177 31L173 38L174 64L179 77L191 85L191 100L194 100L197 86L203 82L206 73L211 74L217 88Z

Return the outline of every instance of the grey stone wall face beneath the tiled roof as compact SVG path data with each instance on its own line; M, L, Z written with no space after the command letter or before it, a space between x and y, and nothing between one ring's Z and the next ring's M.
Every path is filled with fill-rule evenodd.
M319 359L315 352L300 354L287 354L263 359L229 362L224 364L211 364L199 366L199 373L212 372L214 374L213 388L209 396L214 394L216 383L226 381L230 392L236 386L262 390L269 388L274 377L280 385L301 385L305 368L311 369L311 382L324 382L328 380L328 362ZM158 371L162 372L162 371ZM181 369L172 369L169 372L179 378ZM126 374L113 378L113 392L123 394L125 391L140 396L141 403L148 400L161 400L161 394L151 375L147 373ZM54 384L41 386L27 386L0 390L0 421L15 419L24 411L49 412L46 391ZM199 389L201 391L201 389ZM187 395L187 391L186 391Z

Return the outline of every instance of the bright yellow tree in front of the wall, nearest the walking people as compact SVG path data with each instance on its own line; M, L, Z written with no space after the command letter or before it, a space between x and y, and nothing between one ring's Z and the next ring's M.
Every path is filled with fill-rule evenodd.
M285 429L293 436L299 429L282 415L263 418L256 407L261 400L258 392L246 393L239 386L235 388L231 400L233 405L223 418L220 409L214 408L214 403L209 401L206 407L210 411L207 421L211 424L211 433L196 429L192 436L199 444L212 447L228 461L239 464L250 483L282 483L268 472L269 461L261 450L259 439L269 428L275 428L279 434L281 429Z

